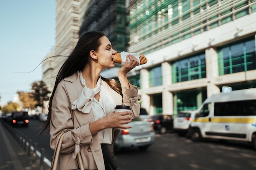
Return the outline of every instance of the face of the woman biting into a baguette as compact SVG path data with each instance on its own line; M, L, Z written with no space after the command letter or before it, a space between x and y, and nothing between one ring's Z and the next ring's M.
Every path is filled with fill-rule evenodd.
M106 36L101 37L100 39L101 45L99 46L97 52L98 63L105 69L105 68L113 68L115 67L115 62L112 61L114 54L117 53L112 46L110 41Z

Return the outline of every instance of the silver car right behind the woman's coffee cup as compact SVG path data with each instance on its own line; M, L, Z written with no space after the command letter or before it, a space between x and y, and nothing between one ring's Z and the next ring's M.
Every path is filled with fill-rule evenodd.
M117 153L121 148L138 147L146 150L155 142L154 126L150 122L143 121L140 117L133 119L128 124L130 129L123 129L114 144L114 152Z

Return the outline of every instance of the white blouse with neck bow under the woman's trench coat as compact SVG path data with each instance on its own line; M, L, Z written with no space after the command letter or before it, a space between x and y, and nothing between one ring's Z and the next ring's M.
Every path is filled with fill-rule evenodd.
M97 81L97 87L90 89L86 86L85 79L80 71L80 81L84 86L79 97L72 103L72 109L78 109L83 113L93 113L94 120L99 120L107 114L115 111L115 100L101 86L101 77ZM99 93L99 101L94 96ZM101 143L111 144L112 128L103 129L98 133Z

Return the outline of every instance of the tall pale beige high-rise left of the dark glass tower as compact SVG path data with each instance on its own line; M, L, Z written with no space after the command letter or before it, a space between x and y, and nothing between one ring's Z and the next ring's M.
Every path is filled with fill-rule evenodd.
M55 48L43 61L43 81L51 91L61 65L72 52L78 39L83 14L90 0L56 0ZM51 56L57 57L51 57ZM58 56L61 55L61 56ZM51 57L51 58L49 58ZM49 59L47 59L49 58Z

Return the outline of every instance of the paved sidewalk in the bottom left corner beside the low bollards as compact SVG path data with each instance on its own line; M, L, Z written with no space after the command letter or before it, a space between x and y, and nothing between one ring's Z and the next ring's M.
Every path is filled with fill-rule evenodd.
M41 168L39 159L28 157L0 122L0 170L49 170L49 167Z

